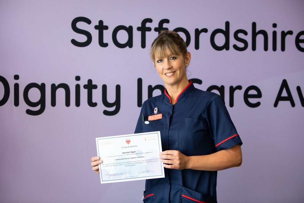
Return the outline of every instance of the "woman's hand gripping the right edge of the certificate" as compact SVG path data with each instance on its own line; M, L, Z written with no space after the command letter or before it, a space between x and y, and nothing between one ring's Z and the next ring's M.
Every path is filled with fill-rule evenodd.
M167 150L159 153L159 155L164 167L168 169L186 169L190 162L190 158L178 150Z

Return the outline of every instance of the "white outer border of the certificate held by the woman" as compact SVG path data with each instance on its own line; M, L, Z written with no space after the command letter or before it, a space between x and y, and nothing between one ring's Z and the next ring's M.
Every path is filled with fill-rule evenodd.
M157 141L158 141L158 149L159 149L159 152L162 151L161 149L161 142L159 140L160 138L160 134L161 132L160 131L154 131L154 132L145 132L145 133L136 133L136 134L130 134L130 135L116 135L116 136L108 136L108 137L102 137L102 138L96 138L96 145L97 145L97 153L98 153L98 156L99 156L99 145L98 145L98 141L99 140L104 140L104 139L113 139L113 138L123 138L123 137L132 137L132 136L140 136L140 135L150 135L150 134L157 134ZM160 163L161 164L161 163ZM149 177L149 178L146 178L146 179L152 179L152 177L162 177L163 176L163 168L161 170L161 175L156 175L156 176L143 176L143 177L134 177L134 178L123 178L123 179L115 179L115 180L102 180L102 172L101 172L101 167L100 167L101 164L99 164L99 173L100 173L100 179L101 179L101 183L106 183L106 181L117 181L117 180L122 180L122 181L132 181L130 179L139 179L139 180L143 180L142 178L145 178L145 177ZM161 164L161 167L162 164ZM117 181L118 182L118 181Z

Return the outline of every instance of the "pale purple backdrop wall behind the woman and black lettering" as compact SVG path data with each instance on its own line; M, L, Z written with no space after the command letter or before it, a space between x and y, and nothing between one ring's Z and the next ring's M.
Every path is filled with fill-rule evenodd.
M211 85L224 86L226 106L244 143L242 166L218 173L218 201L302 202L303 8L303 1L287 0L2 1L0 202L140 202L144 181L100 184L98 174L92 172L90 158L96 155L96 137L133 133L140 112L137 79L143 80L143 100L147 99L148 85L163 85L149 58L150 44L157 37L154 28L162 19L169 19L170 23L164 23L164 27L170 30L182 27L189 32L188 50L192 53L189 78L202 80L201 85L195 86L203 90ZM92 42L85 47L71 43L72 39L87 40L72 29L72 21L77 17L92 22L76 24L92 36ZM146 25L152 31L146 32L146 47L142 48L137 27L146 18L153 20ZM94 26L99 20L108 26L99 40L101 44L108 43L107 47L98 44L98 30ZM225 28L226 22L229 30ZM262 34L253 43L254 22L257 31L265 30L268 35L267 51ZM119 25L132 26L131 48L119 48L113 42L113 30ZM195 37L195 29L203 28L207 28L207 33ZM220 49L225 43L222 33L215 35L216 45L211 43L212 32L220 31L216 29L225 30L229 50L215 48ZM243 41L234 36L240 29L247 33L238 34ZM282 31L289 33L283 43L284 51ZM101 38L102 30L99 32ZM180 34L186 39L187 34ZM273 51L273 34L277 36L276 51ZM124 30L114 37L120 44L128 40ZM199 47L195 47L198 39ZM252 44L256 44L255 51ZM236 46L245 48L238 51ZM19 75L19 79L14 79L14 75ZM75 76L80 76L80 81ZM88 91L83 87L89 79L98 86L92 90L96 107L88 105ZM283 79L290 93L285 84L279 94ZM14 91L15 83L19 84L19 91ZM30 83L45 83L45 110L36 116L26 113L27 109L36 111L41 106L29 107L29 101L24 100L23 94L27 93L24 90ZM63 89L57 91L56 106L51 105L52 83L69 86L69 107L65 106ZM80 84L79 107L75 106L76 84ZM113 116L103 113L115 109L102 102L104 84L111 103L119 99L116 85L121 88L120 109ZM234 105L230 107L230 86L238 85L242 89L234 92ZM249 107L244 102L249 86L261 90L261 98L249 99L250 103L260 102L258 107ZM155 90L153 95L159 93ZM14 94L19 95L19 106L14 105ZM274 107L278 94L281 100L288 94L290 100L292 95L294 107L290 101L279 101ZM29 89L27 95L32 102L41 98L37 88Z

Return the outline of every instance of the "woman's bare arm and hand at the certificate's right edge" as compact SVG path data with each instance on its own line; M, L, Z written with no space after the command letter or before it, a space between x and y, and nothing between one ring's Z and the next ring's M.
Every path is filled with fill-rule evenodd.
M169 169L218 171L240 166L242 150L240 145L235 145L230 149L202 156L185 156L177 150L167 150L160 153L160 158L164 167Z

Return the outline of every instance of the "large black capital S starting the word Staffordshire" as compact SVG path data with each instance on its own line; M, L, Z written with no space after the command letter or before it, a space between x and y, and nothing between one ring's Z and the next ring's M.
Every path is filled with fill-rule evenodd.
M76 24L78 22L85 22L87 24L91 24L91 20L86 18L86 17L77 17L77 18L74 18L73 21L72 21L72 30L75 32L75 33L78 33L78 34L83 34L87 37L87 40L85 42L78 42L74 39L71 40L71 43L74 44L76 47L86 47L88 46L89 44L91 44L92 42L92 35L90 32L86 31L86 30L81 30L79 29Z

